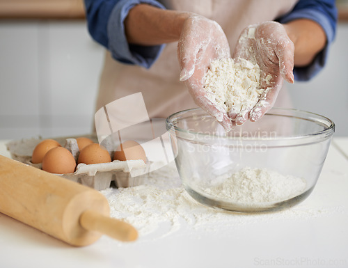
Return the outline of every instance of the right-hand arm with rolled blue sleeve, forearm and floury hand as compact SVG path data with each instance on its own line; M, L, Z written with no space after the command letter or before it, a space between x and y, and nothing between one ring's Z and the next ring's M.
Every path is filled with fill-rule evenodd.
M323 68L335 33L335 15L334 0L300 0L291 13L279 19L283 24L264 22L244 30L233 58L258 63L264 91L251 111L231 111L230 118L237 125L248 119L258 120L267 113L276 101L283 79L290 83L294 79L308 80ZM248 31L255 36L245 38Z

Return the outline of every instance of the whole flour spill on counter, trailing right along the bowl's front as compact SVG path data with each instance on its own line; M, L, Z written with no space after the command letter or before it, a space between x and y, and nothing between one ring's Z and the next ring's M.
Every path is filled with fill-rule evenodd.
M237 214L216 210L197 203L184 190L175 164L148 174L142 185L109 188L101 191L110 205L110 215L132 224L143 239L160 239L178 230L214 232L233 235L246 224L272 221L303 220L340 210L332 207L306 208L302 204L291 209L265 214ZM164 228L165 226L165 228Z

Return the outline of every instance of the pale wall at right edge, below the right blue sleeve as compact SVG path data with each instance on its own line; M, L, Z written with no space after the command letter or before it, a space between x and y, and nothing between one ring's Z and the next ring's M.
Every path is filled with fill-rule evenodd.
M287 88L294 108L330 118L335 136L348 136L348 24L338 24L324 70L309 82L295 82Z

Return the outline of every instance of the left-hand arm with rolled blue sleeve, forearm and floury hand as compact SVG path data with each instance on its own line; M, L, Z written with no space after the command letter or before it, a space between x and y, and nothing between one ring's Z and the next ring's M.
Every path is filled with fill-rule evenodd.
M101 30L106 33L106 47L118 61L150 68L164 46L159 44L178 41L180 80L187 85L199 107L225 129L232 128L227 112L212 104L203 88L205 71L211 61L230 57L228 40L219 24L193 13L164 10L153 0L85 2L90 30L102 22L98 12L100 3L117 2L107 18L107 31ZM93 36L93 31L90 32Z

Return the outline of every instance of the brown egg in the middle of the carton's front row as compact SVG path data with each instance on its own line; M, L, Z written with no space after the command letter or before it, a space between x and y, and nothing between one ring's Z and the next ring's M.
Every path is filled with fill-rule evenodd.
M89 165L107 162L111 162L109 152L98 143L87 145L84 149L81 150L79 158L77 159L77 164L84 163Z

